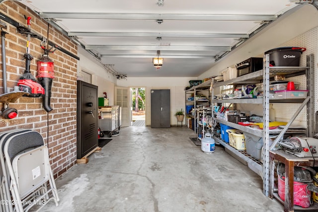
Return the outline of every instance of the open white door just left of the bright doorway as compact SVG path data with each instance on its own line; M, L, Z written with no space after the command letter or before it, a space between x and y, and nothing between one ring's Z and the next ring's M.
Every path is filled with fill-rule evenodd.
M130 126L130 89L128 87L115 86L114 103L121 107L121 126Z

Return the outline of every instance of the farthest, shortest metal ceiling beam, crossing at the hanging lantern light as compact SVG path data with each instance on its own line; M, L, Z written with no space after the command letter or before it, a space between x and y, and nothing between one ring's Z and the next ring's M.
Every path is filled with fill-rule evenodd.
M157 55L100 55L101 58L154 58ZM194 59L211 59L214 60L215 56L206 56L206 55L162 55L161 58L194 58Z

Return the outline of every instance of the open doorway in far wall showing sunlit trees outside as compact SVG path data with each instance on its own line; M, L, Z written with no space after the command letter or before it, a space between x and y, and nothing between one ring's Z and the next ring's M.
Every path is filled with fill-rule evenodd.
M132 125L136 127L146 126L146 93L144 87L132 89Z

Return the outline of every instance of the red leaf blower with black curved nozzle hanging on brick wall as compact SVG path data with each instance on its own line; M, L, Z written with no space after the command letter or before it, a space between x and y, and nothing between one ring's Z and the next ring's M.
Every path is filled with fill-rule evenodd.
M42 58L37 62L37 65L38 75L36 77L45 90L45 94L43 97L43 108L44 110L46 110L46 112L50 112L53 110L50 104L52 81L54 78L54 63L48 55L42 55Z

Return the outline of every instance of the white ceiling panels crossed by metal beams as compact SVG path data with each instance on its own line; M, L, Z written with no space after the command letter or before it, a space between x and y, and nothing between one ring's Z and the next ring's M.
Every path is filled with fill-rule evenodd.
M158 0L20 2L127 77L199 76L296 6L290 0L164 0L163 6ZM152 64L157 50L164 59L159 70Z

